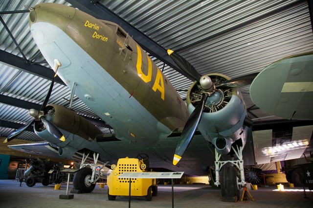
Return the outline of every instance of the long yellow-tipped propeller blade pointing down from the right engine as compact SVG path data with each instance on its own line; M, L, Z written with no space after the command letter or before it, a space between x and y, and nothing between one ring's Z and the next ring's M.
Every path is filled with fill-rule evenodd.
M184 129L182 130L182 133L180 135L180 141L176 147L176 151L174 154L173 165L177 165L182 155L187 150L192 140L192 137L194 136L198 128L207 96L208 96L207 94L203 94L200 103L197 105L195 110L191 113L190 117L188 118L185 124Z

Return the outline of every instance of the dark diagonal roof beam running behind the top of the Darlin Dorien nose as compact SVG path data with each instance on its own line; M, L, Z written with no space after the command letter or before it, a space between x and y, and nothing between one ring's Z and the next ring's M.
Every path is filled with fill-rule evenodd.
M121 26L126 32L129 33L131 37L149 54L156 57L160 61L164 62L168 66L172 67L180 74L188 77L193 80L190 76L185 74L180 70L180 68L174 63L174 61L167 55L166 49L162 46L158 45L151 38L146 36L144 33L136 29L133 25L131 25L126 20L120 18L116 14L114 14L110 9L105 7L103 4L93 0L67 0L74 7L88 13L89 15L97 18L104 19L108 21L112 21L119 26Z

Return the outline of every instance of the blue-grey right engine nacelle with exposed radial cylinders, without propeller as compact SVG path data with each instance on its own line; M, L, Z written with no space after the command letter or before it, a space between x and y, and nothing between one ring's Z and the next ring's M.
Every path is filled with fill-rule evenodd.
M208 74L215 85L228 76ZM195 110L202 97L199 83L194 82L187 93L187 106L190 113ZM231 145L238 139L246 138L246 128L243 128L246 117L246 106L238 88L220 88L208 96L198 129L203 137L211 142L220 154L231 151ZM246 141L242 141L244 146Z

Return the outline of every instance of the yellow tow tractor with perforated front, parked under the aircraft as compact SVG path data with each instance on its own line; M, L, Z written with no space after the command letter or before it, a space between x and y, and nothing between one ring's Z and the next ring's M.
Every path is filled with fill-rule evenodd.
M118 178L123 172L145 172L149 168L147 154L138 154L137 158L120 158L117 165L111 165L112 173L107 178L108 199L115 200L116 196L129 196L130 178ZM151 201L156 196L156 179L131 178L131 196L145 196Z

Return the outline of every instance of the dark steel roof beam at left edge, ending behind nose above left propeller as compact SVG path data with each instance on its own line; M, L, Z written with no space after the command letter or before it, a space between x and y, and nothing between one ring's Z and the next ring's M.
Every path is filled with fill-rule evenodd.
M54 72L50 68L28 62L22 57L15 56L2 50L0 50L0 63L48 80L52 80L54 76ZM55 82L65 85L65 83L58 76L55 77Z

